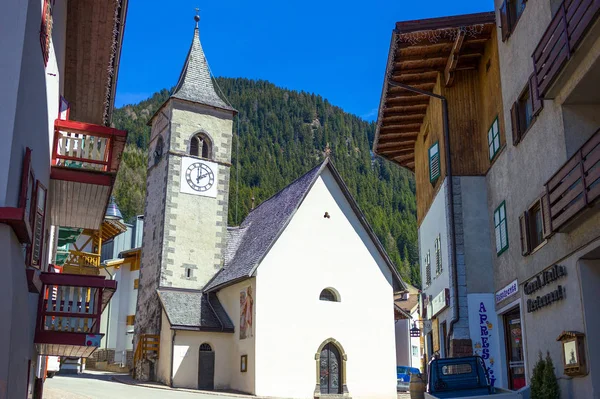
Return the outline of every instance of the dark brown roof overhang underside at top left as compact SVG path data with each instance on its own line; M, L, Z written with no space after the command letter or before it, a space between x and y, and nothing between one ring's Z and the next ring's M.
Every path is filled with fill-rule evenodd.
M70 118L108 125L114 107L128 0L67 4L64 96Z

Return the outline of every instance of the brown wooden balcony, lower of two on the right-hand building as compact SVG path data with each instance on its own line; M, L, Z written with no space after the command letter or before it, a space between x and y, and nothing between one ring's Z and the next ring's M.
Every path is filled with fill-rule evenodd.
M600 129L546 183L552 230L565 232L600 198Z

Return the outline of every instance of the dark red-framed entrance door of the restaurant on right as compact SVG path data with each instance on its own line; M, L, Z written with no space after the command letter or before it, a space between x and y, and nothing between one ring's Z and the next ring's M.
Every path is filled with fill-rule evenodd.
M521 310L513 309L504 315L506 333L506 364L509 388L517 390L525 386L525 359L523 357L523 333Z

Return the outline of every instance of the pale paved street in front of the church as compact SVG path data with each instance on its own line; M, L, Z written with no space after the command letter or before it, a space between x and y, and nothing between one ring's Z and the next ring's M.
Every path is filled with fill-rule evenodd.
M129 380L127 376L87 371L80 375L57 375L44 384L44 399L233 399L255 398L246 395L190 392L166 387L134 386L117 382L113 377ZM398 399L408 399L408 393L399 393Z

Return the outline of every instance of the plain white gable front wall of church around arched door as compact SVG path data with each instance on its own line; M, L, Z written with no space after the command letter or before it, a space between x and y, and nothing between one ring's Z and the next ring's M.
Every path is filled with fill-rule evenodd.
M257 395L312 398L315 355L334 338L347 354L353 398L396 398L392 273L328 170L261 263L256 285ZM341 302L319 300L327 287Z

